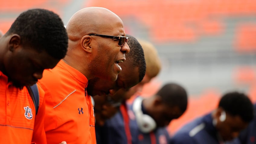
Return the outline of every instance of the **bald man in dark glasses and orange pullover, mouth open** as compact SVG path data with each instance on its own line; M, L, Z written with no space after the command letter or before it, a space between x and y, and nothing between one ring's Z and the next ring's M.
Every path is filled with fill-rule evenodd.
M66 25L66 57L43 73L46 92L45 131L48 144L96 144L94 112L87 94L88 80L117 79L130 52L123 21L112 11L88 7L76 12Z

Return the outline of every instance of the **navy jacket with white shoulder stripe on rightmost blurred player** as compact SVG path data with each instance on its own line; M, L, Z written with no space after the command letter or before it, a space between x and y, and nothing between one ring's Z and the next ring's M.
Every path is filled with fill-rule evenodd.
M183 126L171 137L170 144L219 144L211 113Z

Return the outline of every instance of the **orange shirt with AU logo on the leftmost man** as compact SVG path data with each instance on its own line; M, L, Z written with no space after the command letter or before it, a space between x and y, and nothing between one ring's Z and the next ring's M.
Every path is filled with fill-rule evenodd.
M44 132L44 91L39 89L39 109L35 106L27 88L16 88L0 71L0 142L46 144ZM32 140L33 139L33 140Z

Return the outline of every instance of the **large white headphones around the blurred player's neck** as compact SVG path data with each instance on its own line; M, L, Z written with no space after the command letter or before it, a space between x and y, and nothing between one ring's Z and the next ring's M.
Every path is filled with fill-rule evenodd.
M133 111L139 130L141 130L143 133L149 133L156 128L156 122L149 115L143 114L141 107L142 100L143 99L141 97L138 97L134 100Z

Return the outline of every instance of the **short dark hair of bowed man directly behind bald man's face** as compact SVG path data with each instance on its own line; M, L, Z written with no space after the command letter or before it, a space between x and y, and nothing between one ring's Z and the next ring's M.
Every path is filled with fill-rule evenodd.
M135 37L129 34L126 34L126 37L128 37L127 44L130 47L130 53L125 54L127 63L132 64L133 67L139 67L139 82L141 82L146 73L144 51Z

